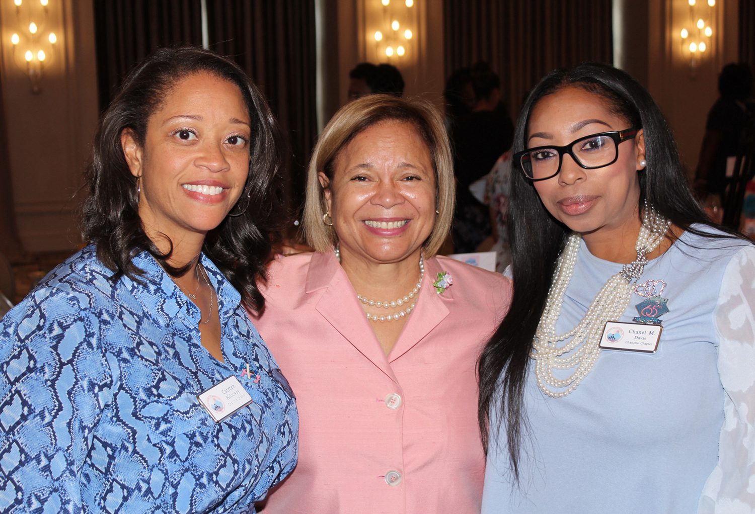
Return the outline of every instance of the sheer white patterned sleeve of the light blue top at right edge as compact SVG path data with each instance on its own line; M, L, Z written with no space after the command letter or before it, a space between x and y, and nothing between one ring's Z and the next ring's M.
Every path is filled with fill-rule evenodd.
M698 514L755 514L755 247L726 266L714 316L724 422Z

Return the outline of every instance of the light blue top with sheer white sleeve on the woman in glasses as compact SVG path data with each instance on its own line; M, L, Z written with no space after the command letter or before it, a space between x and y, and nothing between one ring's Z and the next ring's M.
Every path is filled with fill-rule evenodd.
M582 242L556 331L573 328L620 270ZM492 432L483 514L755 509L755 249L686 232L646 280L667 284L658 351L604 349L562 399L538 389L531 367L521 482L512 485L505 429ZM633 294L618 321L632 322L642 300ZM732 502L743 509L727 510Z

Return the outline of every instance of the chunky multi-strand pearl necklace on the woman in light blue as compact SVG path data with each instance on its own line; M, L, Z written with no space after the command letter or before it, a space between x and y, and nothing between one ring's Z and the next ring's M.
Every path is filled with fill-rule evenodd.
M577 389L579 383L593 369L600 354L600 338L604 325L618 320L629 306L632 291L648 262L647 255L663 241L670 222L646 208L643 225L635 245L637 258L625 264L613 275L598 294L575 328L556 334L556 322L561 314L566 288L572 280L579 253L581 235L569 236L566 248L556 263L556 272L548 291L538 330L532 341L532 359L540 389L552 398L563 398ZM567 343L559 346L563 341ZM556 378L553 370L573 370L565 379Z

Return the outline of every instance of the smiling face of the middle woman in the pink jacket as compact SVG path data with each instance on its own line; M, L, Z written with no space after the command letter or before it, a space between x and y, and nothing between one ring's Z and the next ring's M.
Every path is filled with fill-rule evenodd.
M369 263L418 257L435 223L430 150L414 125L381 122L357 134L319 174L341 256Z

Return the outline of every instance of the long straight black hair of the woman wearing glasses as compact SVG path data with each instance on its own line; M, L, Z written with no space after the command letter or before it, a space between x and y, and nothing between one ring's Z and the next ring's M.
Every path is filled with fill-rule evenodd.
M639 172L640 205L648 205L676 226L698 235L692 223L710 223L692 197L679 152L661 109L648 91L620 69L601 63L582 63L572 69L550 72L527 98L514 133L513 152L525 149L529 116L542 97L561 88L578 87L602 97L627 126L645 134L647 167ZM511 178L508 230L514 292L511 307L480 356L478 419L485 451L488 431L498 436L505 425L510 466L519 479L519 454L525 434L523 391L532 339L538 328L556 260L570 230L544 208L532 183L514 170ZM726 232L726 230L725 230ZM491 426L495 410L499 423Z

